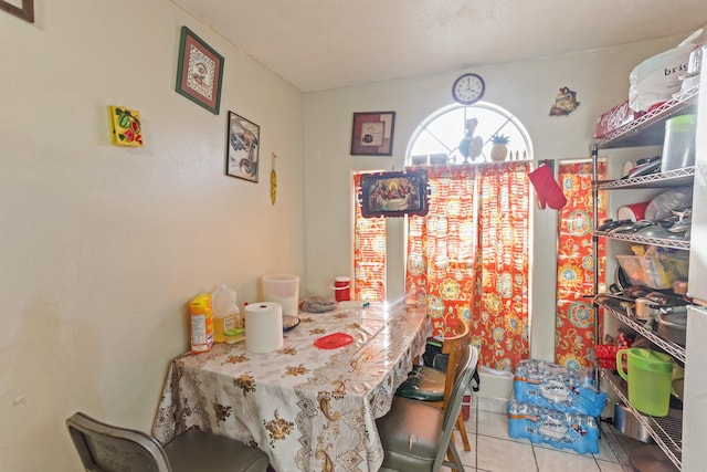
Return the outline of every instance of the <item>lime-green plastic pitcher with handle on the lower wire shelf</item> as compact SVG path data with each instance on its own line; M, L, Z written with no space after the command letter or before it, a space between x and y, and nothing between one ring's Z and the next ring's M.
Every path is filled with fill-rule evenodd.
M627 366L627 370L624 370ZM673 385L673 358L631 347L616 353L616 370L629 384L629 401L644 415L667 416Z

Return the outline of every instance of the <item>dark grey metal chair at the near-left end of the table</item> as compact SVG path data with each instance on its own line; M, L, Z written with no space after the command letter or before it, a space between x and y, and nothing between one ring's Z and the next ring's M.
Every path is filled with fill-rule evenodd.
M89 472L265 472L270 463L260 449L205 431L186 431L162 447L149 434L83 412L66 426Z

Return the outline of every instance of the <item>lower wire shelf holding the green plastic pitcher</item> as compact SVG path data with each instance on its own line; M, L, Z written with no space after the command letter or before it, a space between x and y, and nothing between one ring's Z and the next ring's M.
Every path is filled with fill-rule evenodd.
M601 369L601 377L606 380L616 396L631 408L633 415L643 423L646 431L657 445L679 470L683 469L683 415L679 410L671 409L667 417L651 417L639 412L629 401L625 381L610 370Z

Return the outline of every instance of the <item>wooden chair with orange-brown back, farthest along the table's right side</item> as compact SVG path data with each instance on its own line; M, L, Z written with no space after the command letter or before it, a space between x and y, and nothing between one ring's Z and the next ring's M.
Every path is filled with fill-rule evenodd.
M446 408L450 395L454 386L454 376L460 361L462 349L469 344L471 328L466 319L460 319L457 332L454 336L444 338L442 353L449 356L446 370L440 370L439 366L413 366L407 380L395 391L395 395L413 400L426 401L439 408ZM456 429L462 437L465 451L471 451L472 445L466 433L464 417L460 412L456 419ZM451 459L451 458L450 458Z

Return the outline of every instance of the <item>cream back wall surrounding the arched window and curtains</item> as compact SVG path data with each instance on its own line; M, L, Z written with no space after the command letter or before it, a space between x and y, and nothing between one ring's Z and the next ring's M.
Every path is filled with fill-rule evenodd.
M597 117L627 97L631 70L685 36L468 71L485 78L485 101L523 122L536 159L589 158ZM307 277L312 290L327 293L335 275L351 273L351 174L401 170L412 133L430 114L452 103L452 83L463 72L306 95ZM551 117L550 107L562 86L578 93L580 106L568 116ZM397 112L393 156L350 156L352 113L376 111ZM536 209L534 218L530 350L535 358L552 360L557 211ZM389 219L388 229L388 291L389 300L395 300L404 291L404 221ZM482 381L482 394L507 398L510 382L489 377Z

